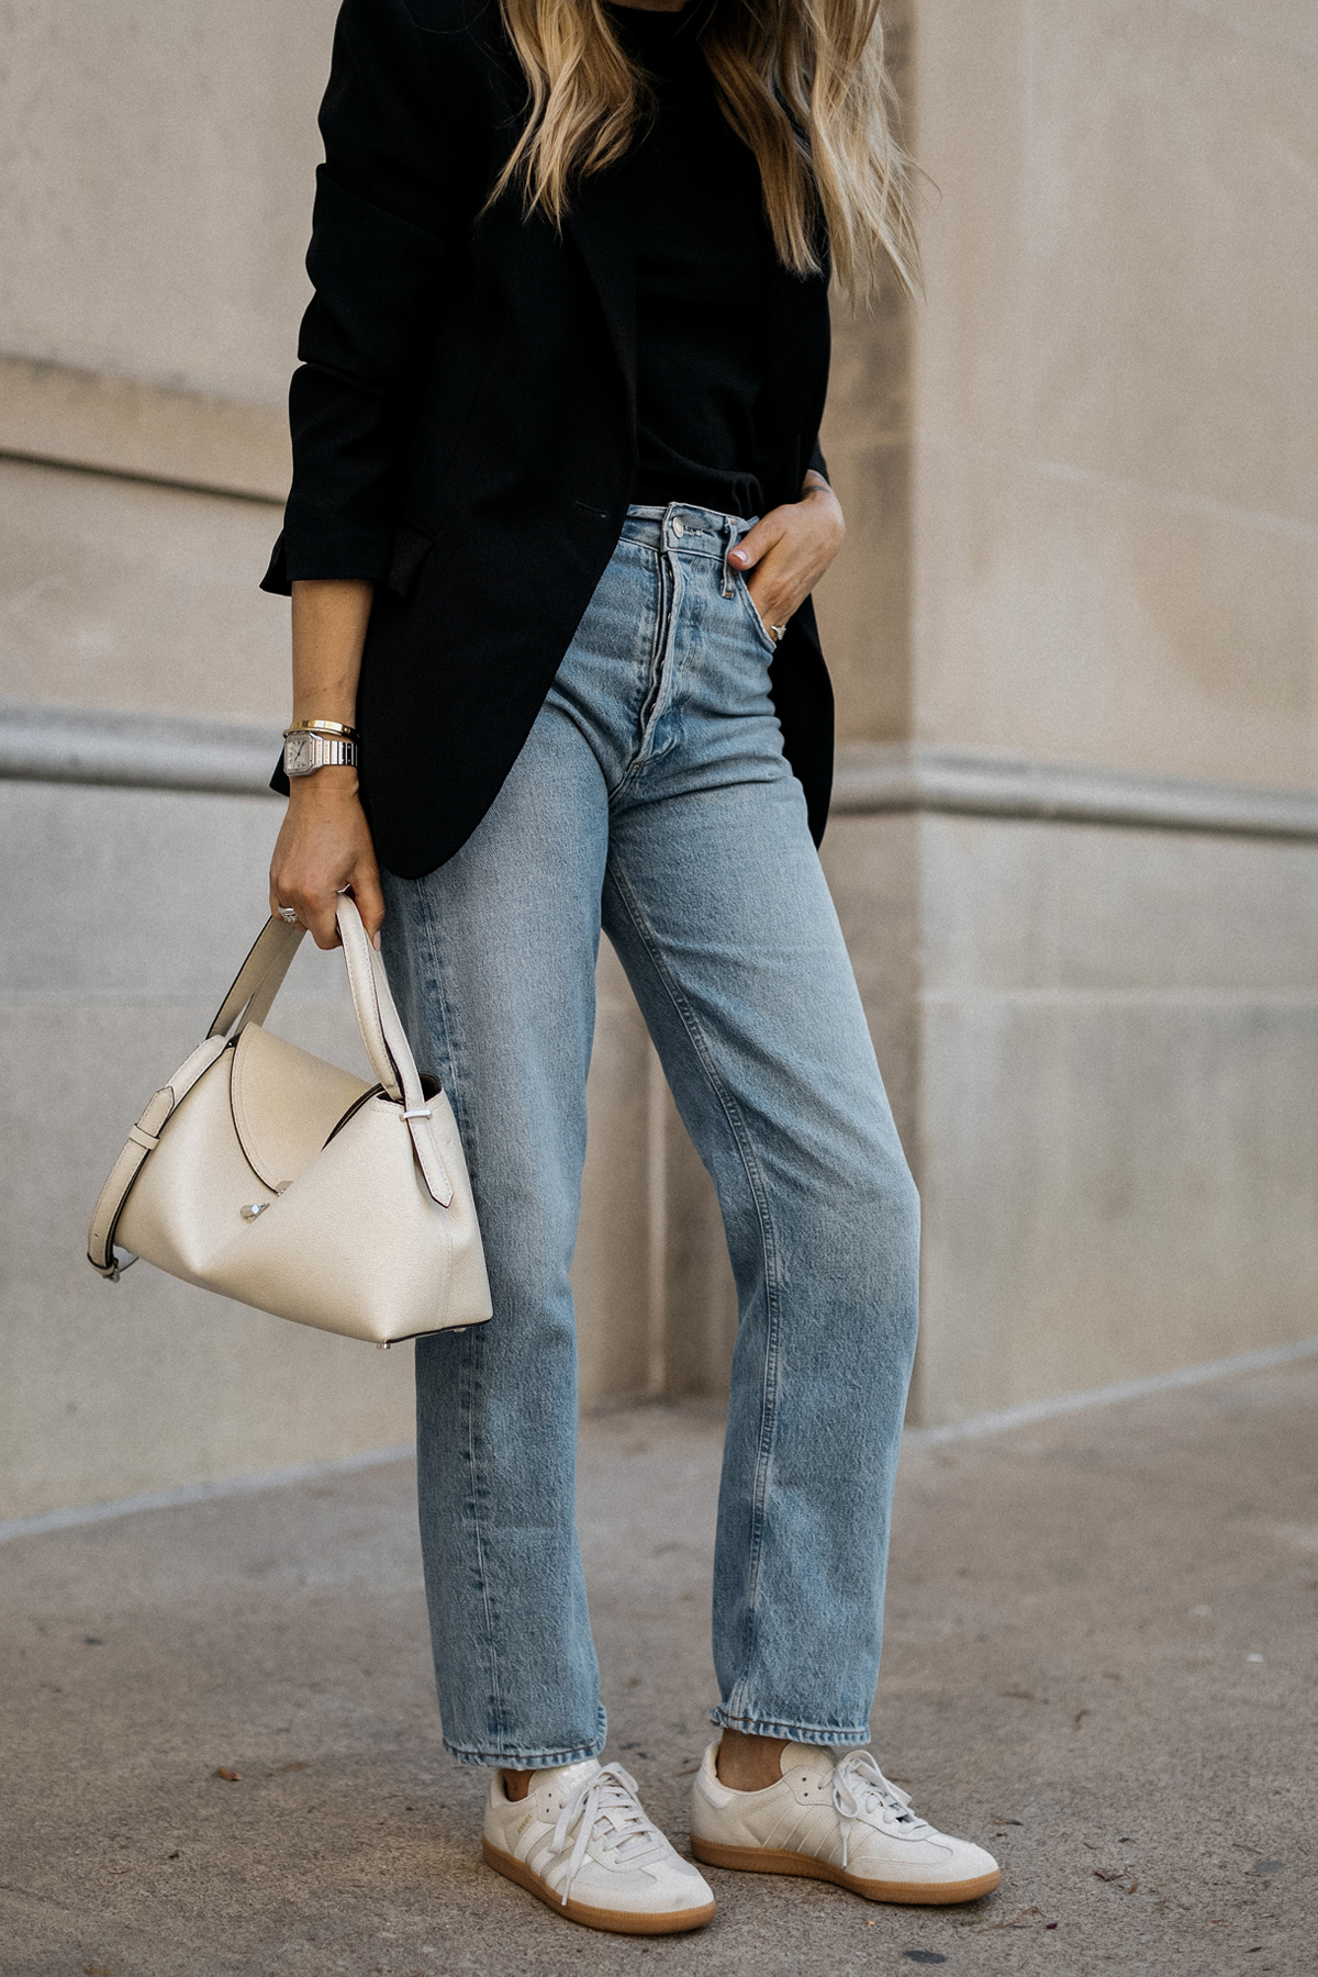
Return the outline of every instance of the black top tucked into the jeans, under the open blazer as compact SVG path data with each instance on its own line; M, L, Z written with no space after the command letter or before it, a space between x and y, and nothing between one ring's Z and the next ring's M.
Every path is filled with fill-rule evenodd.
M763 512L755 405L775 249L759 166L719 109L698 12L700 0L680 14L609 6L658 99L615 166L636 249L632 500L751 516Z

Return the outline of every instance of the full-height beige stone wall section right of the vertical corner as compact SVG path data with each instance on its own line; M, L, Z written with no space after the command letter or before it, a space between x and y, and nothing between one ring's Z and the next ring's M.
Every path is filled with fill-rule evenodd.
M893 838L911 870L941 1421L1318 1332L1318 22L911 14L907 672L844 728L905 739L925 809L826 862L858 951ZM939 811L948 759L1004 809Z

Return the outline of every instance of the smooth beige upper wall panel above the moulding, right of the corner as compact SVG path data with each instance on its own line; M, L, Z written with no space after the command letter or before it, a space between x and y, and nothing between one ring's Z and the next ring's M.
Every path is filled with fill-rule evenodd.
M911 733L1312 787L1318 16L929 0L913 95Z

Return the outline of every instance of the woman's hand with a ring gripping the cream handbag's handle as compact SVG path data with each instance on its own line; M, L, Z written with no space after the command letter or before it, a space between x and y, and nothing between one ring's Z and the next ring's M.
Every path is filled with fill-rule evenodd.
M348 888L379 947L385 902L356 769L316 769L290 785L288 815L271 858L271 913L290 905L316 947L336 947L334 898Z

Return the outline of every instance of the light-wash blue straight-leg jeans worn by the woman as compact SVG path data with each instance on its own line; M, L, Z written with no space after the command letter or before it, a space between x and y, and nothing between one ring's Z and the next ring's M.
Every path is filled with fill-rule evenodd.
M439 1706L468 1763L605 1744L567 1277L601 923L737 1277L709 1716L867 1740L919 1202L783 757L773 646L727 563L747 528L632 508L480 828L427 878L385 876L389 979L456 1111L494 1293L488 1325L417 1344Z

